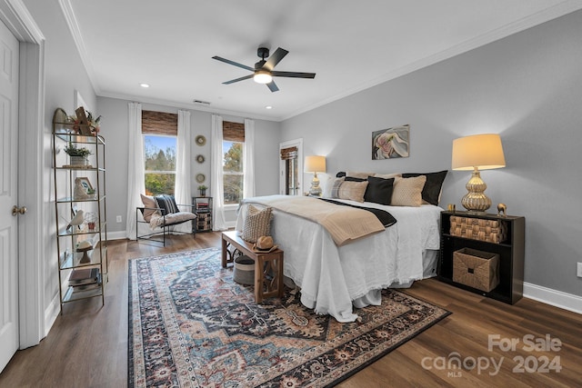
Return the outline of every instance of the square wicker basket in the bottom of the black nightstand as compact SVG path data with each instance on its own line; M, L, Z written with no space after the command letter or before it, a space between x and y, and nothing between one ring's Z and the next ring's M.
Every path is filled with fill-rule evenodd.
M490 292L499 284L499 255L470 248L455 251L453 282Z

